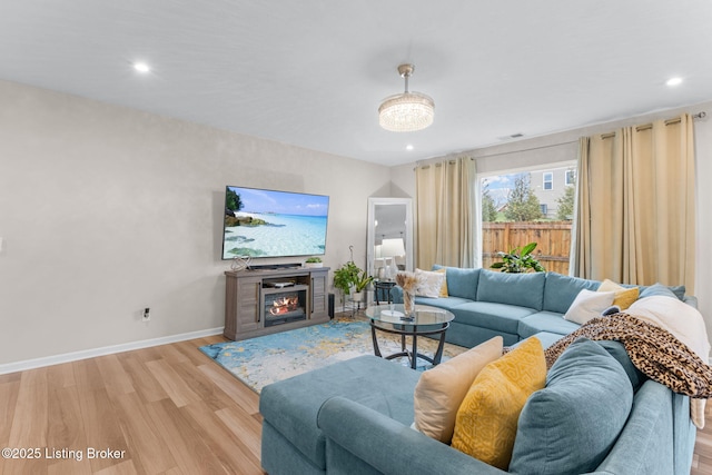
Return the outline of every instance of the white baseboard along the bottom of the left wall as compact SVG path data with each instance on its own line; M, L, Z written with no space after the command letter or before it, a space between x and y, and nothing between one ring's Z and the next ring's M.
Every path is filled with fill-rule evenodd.
M160 338L142 339L139 342L123 343L121 345L103 346L101 348L85 349L81 352L65 353L62 355L46 356L42 358L26 359L22 362L0 365L0 375L23 372L26 369L41 368L43 366L59 365L61 363L77 362L79 359L95 358L97 356L115 353L130 352L132 349L148 348L151 346L167 345L169 343L185 342L187 339L204 338L206 336L222 334L224 327L190 331L179 335L164 336Z

